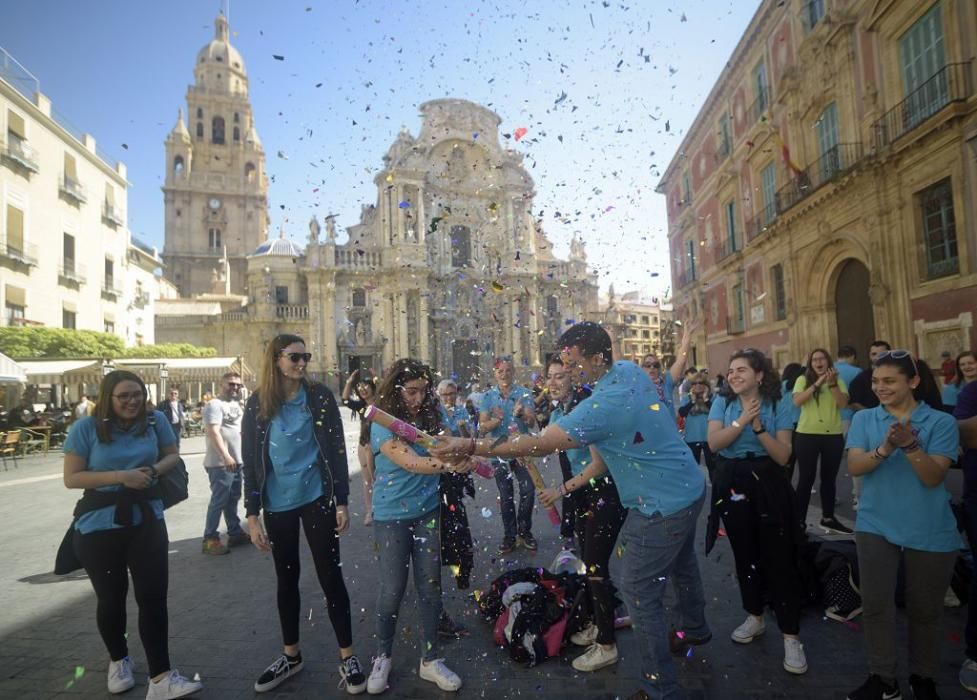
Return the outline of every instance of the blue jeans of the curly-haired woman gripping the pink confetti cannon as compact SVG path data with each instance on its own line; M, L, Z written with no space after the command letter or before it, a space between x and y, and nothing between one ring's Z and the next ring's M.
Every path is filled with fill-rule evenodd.
M421 612L424 661L438 658L441 618L441 523L435 508L411 520L374 520L373 535L380 561L377 595L377 655L390 656L397 634L397 615L407 589L407 570L414 562L414 591Z

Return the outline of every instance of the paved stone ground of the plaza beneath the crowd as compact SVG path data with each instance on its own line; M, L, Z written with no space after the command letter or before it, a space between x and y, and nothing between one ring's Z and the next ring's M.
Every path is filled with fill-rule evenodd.
M355 455L356 423L347 424L347 442ZM202 438L184 441L191 472L190 499L167 513L170 532L170 651L176 668L199 674L205 682L200 697L230 700L251 698L252 684L261 670L280 653L280 631L275 608L275 577L271 556L252 547L235 549L225 557L200 554L200 536L209 498L201 461ZM354 460L355 461L355 460ZM355 467L354 467L355 469ZM548 467L552 471L552 467ZM546 473L546 470L544 470ZM844 469L842 469L844 473ZM31 457L20 468L0 472L0 513L8 526L0 549L0 698L107 697L106 654L95 628L95 601L85 576L56 577L49 572L54 554L78 497L61 482L58 455ZM552 477L551 477L552 478ZM557 533L544 514L537 512L535 532L538 554L520 550L506 561L491 553L501 534L501 521L493 482L478 481L479 492L470 507L479 554L473 587L485 585L509 565L548 566L559 549ZM353 601L354 636L358 653L368 663L373 651L373 606L376 582L370 528L362 525L360 479L351 480L353 527L344 536L343 563ZM850 479L839 477L840 498L848 503ZM817 522L818 497L812 498L810 520ZM491 511L483 517L482 509ZM243 511L242 511L243 512ZM849 522L850 507L838 513ZM701 546L702 525L699 540ZM311 560L303 559L304 609L302 644L306 669L300 676L269 695L273 698L339 698L336 689L335 638L313 575ZM612 562L612 574L617 561ZM802 621L802 638L810 671L793 677L781 667L783 646L772 616L770 634L754 644L729 641L730 631L743 618L732 571L729 545L720 541L709 559L701 559L708 600L707 614L715 638L679 662L682 684L692 699L843 698L866 676L860 626L825 619L809 609ZM483 698L614 698L627 697L637 687L638 663L632 632L619 635L620 663L592 675L570 666L578 653L570 649L562 658L527 669L515 666L491 641L489 626L472 614L471 603L454 588L448 572L443 578L446 605L469 626L469 638L445 645L447 663L464 680L454 697ZM137 664L137 687L145 692L145 657L136 630L137 611L130 595L130 646ZM416 604L409 588L403 605L401 634L394 649L391 689L386 697L452 697L417 677L419 659ZM947 610L943 666L938 678L943 698L967 694L956 684L962 658L964 609ZM905 629L900 623L905 648ZM907 672L902 671L903 689Z

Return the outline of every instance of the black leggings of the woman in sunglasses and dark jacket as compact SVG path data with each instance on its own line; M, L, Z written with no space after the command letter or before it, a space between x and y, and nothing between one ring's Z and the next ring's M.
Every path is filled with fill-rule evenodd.
M353 623L350 619L349 593L343 581L339 560L339 533L336 532L336 509L320 497L294 510L278 513L265 511L265 528L271 541L271 553L278 575L278 619L282 625L285 646L299 643L299 523L312 550L319 585L326 594L329 621L340 649L353 646Z

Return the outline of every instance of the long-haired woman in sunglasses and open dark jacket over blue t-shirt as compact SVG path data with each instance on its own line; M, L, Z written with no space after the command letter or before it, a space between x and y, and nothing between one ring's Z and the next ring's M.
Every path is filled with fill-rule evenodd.
M258 390L248 399L241 428L248 532L254 546L271 551L275 561L284 644L254 689L267 692L302 670L302 528L339 643L340 686L356 695L366 687L366 676L353 653L349 594L339 558L339 535L349 527L349 467L339 405L325 386L306 377L311 357L297 335L279 335L268 343ZM262 510L264 527L258 517Z

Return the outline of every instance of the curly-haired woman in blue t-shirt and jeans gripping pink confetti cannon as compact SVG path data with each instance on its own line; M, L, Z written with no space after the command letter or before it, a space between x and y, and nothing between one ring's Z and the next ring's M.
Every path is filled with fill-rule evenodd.
M430 368L416 360L397 360L377 391L377 407L402 421L436 435L441 414L434 397ZM416 444L374 425L371 447L377 477L373 490L373 536L379 571L377 594L377 655L367 692L387 689L397 617L413 563L414 592L421 619L421 663L418 674L441 690L456 691L461 679L438 655L441 618L441 550L439 481L445 472L467 473L467 460L453 466L430 457Z

